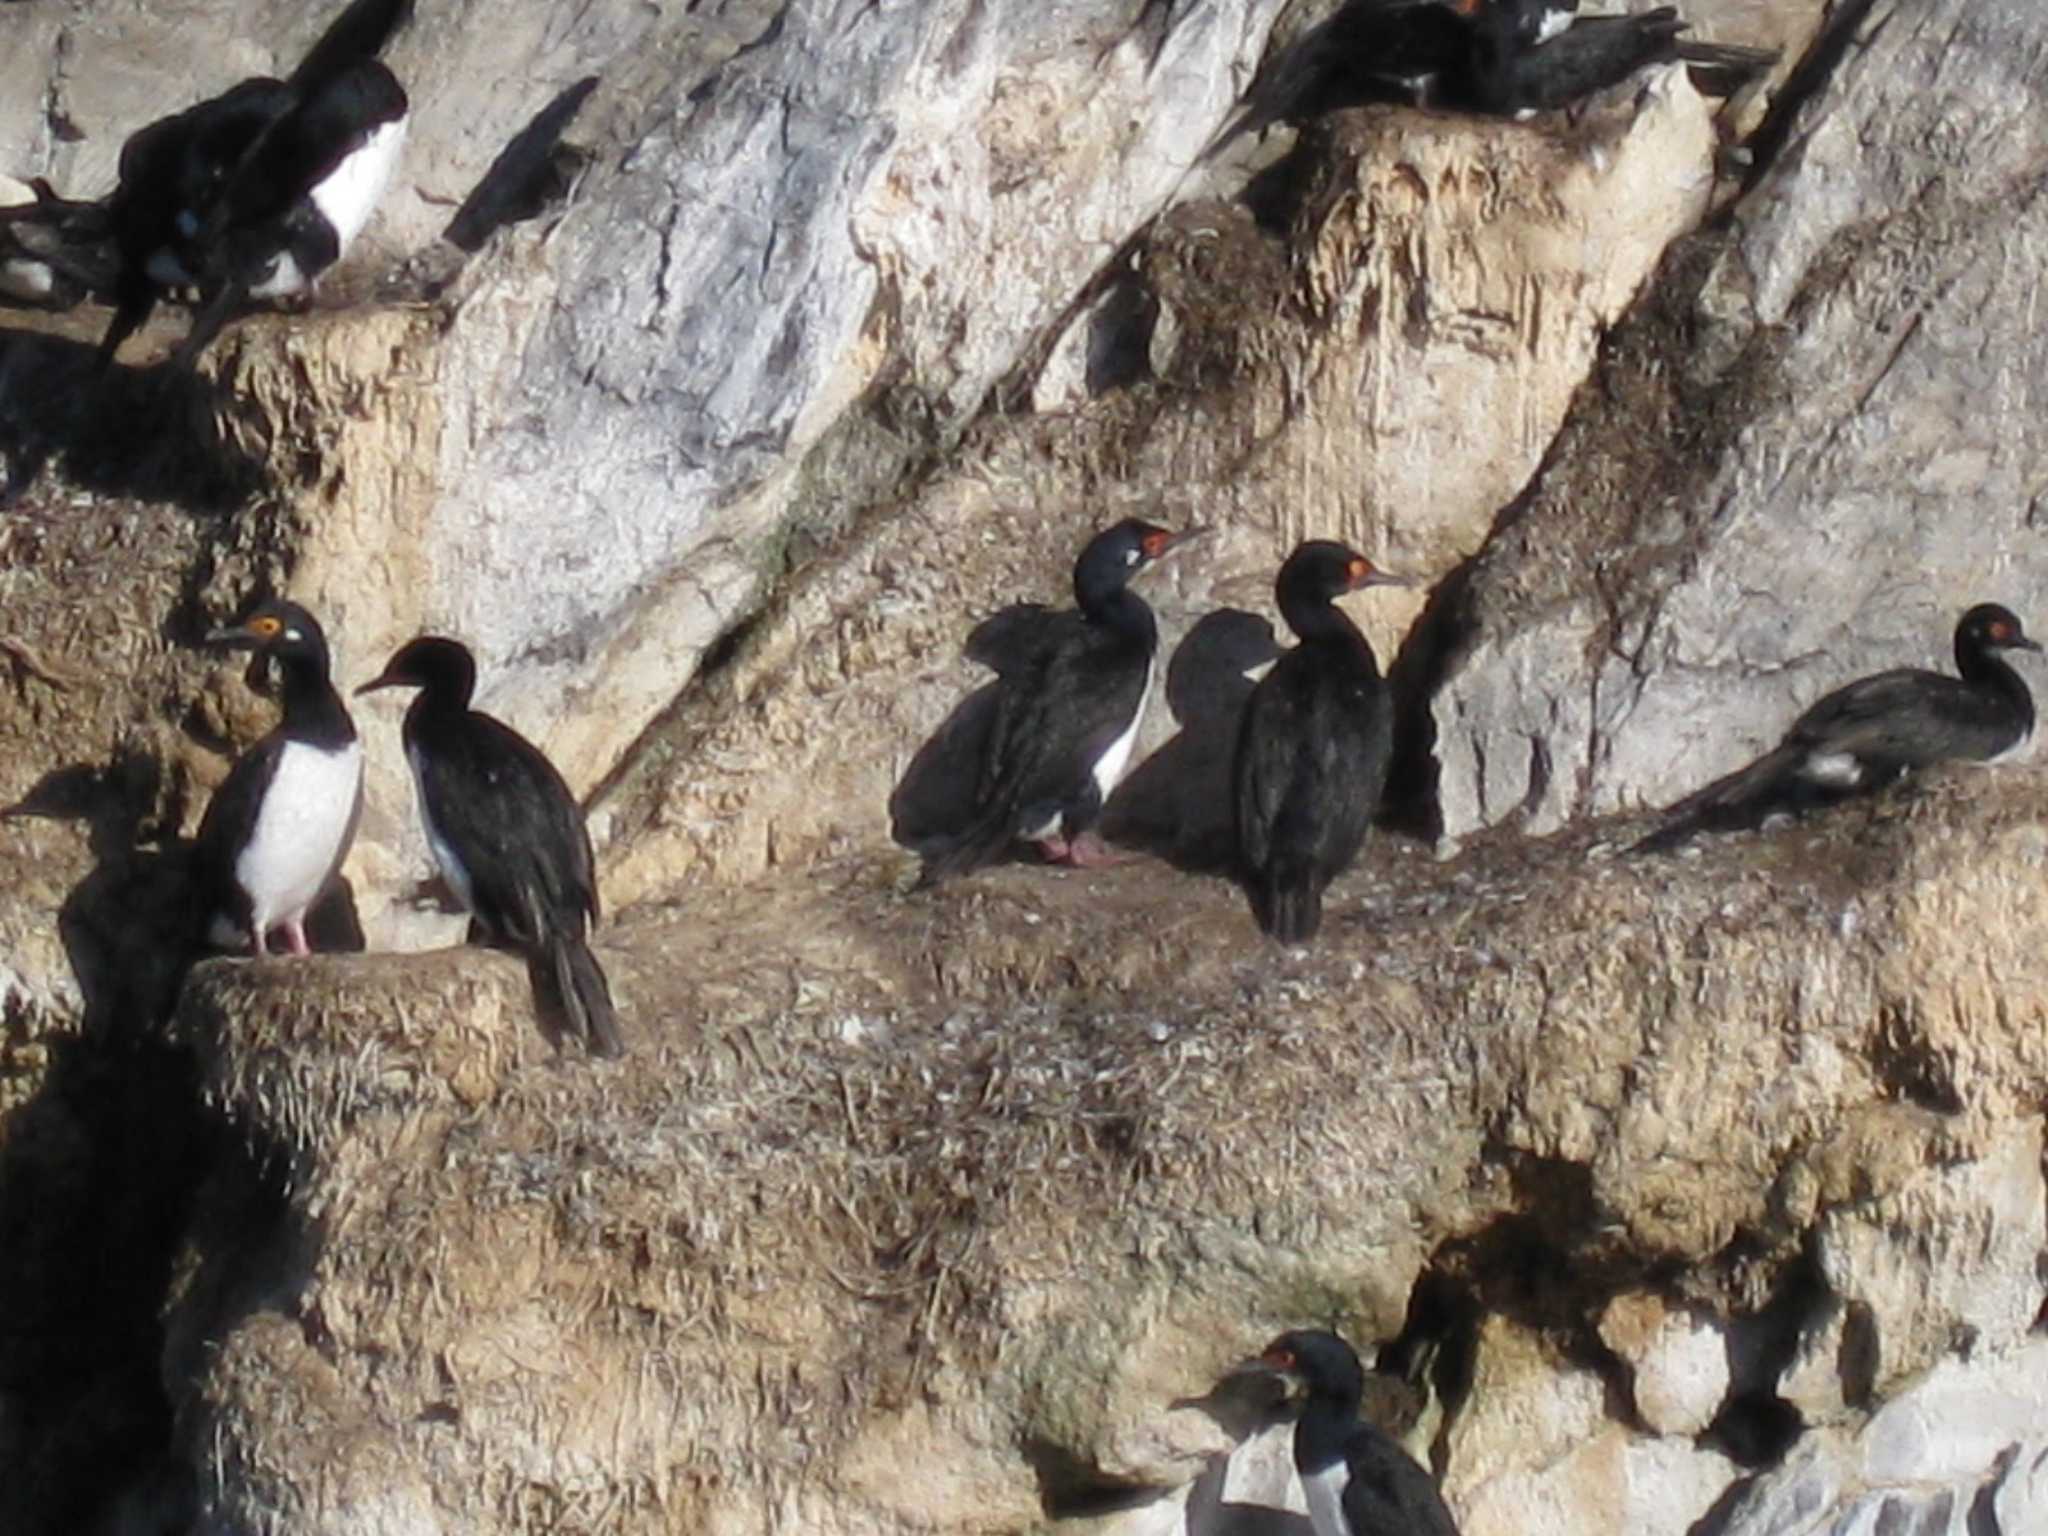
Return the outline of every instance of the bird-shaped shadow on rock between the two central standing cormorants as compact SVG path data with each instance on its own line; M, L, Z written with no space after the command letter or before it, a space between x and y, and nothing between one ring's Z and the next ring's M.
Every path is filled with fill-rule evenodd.
M1102 815L1104 838L1194 874L1237 866L1231 762L1237 719L1257 686L1245 672L1278 655L1274 627L1260 614L1202 614L1165 670L1165 700L1180 733L1118 784Z

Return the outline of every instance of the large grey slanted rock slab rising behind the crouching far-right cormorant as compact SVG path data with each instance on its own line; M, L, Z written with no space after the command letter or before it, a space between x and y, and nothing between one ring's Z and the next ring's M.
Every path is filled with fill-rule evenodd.
M2038 41L2030 0L1864 18L1671 291L1669 410L1606 438L1589 412L1477 563L1436 698L1450 836L1669 803L1849 678L1946 668L1970 602L2025 606L2048 459L2005 422L2048 373L2011 258L2048 219L2013 193L2044 154ZM1663 389L1624 354L1597 414Z

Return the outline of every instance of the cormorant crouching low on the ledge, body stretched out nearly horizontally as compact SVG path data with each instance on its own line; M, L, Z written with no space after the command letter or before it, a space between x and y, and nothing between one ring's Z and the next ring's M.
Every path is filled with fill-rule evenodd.
M1960 678L1894 668L1837 688L1753 764L1665 811L1665 823L1632 852L1868 795L1950 758L2001 758L2034 735L2034 694L1999 651L2038 649L2011 608L1980 602L1956 625Z

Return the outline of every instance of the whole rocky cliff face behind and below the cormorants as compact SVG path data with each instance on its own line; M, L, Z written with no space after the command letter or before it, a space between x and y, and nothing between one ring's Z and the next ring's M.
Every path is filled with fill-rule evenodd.
M0 326L0 446L59 446L0 514L0 1526L1300 1530L1284 1432L1171 1407L1300 1323L1427 1389L1468 1536L2048 1524L2036 774L1602 821L1970 600L2040 621L2048 33L1726 0L1788 51L1729 106L1200 158L1317 18L422 0L326 307L90 414L96 313ZM0 168L100 190L319 20L6 6ZM455 272L590 72L569 201ZM1126 512L1214 528L1112 807L1163 860L903 895L967 627ZM1405 831L1288 954L1194 870L1303 535L1421 588L1362 614ZM346 684L467 635L590 791L627 1061L481 952L182 975L266 719L190 641L266 584ZM444 942L362 723L369 946Z

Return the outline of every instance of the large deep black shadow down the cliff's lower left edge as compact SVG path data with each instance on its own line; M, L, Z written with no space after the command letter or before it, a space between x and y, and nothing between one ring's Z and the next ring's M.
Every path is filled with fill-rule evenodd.
M90 872L57 909L84 1001L0 1141L0 1389L23 1405L0 1528L178 1530L190 1473L172 1456L164 1313L197 1192L231 1153L166 1022L203 956L190 846L162 838L162 766L131 754L45 774L4 815L86 827ZM362 948L346 883L315 907L317 948ZM270 961L289 965L289 961Z

